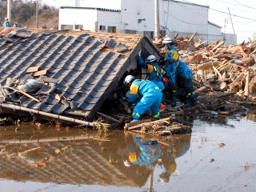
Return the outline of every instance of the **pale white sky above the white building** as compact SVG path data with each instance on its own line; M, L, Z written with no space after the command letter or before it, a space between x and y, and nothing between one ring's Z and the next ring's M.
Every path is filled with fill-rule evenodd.
M42 0L47 4L58 6L58 2L63 0ZM102 8L118 10L121 8L121 0L85 0L88 7L96 7L95 2L100 2ZM248 38L253 40L253 34L256 32L256 1L250 0L180 0L180 2L193 2L203 6L210 6L209 21L214 22L218 26L222 26L222 32L227 34L237 34L238 43ZM98 4L98 3L97 3ZM233 21L230 20L230 15ZM224 12L224 13L222 13ZM190 10L193 14L193 10ZM226 13L226 14L225 14ZM234 16L236 15L236 16Z

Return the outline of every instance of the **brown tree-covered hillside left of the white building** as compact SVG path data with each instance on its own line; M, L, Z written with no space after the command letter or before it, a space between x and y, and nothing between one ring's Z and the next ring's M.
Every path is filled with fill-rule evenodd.
M58 9L38 2L37 19L36 2L11 2L11 25L18 22L18 26L27 28L58 29ZM7 15L7 2L0 2L1 26ZM38 21L38 25L37 25Z

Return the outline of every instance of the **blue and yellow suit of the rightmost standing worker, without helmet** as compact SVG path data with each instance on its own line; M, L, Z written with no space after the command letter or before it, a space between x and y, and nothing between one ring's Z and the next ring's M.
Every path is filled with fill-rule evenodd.
M174 48L174 45L170 46L168 50L165 62L166 77L169 78L170 81L168 81L168 83L176 87L176 79L177 77L180 78L184 83L186 94L194 97L192 70L190 70L190 67L187 66L185 62L179 60L178 50Z

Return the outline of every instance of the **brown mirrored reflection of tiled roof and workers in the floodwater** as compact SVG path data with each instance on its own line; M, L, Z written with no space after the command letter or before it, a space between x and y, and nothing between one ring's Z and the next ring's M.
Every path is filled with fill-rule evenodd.
M153 181L157 165L160 180L168 182L175 158L186 153L191 138L184 134L157 141L122 131L20 129L25 134L15 127L0 130L0 178L18 182L144 186L150 177Z

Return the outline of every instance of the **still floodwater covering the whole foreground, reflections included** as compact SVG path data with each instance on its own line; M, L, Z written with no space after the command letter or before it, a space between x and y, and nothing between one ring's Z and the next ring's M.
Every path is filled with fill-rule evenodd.
M191 133L158 141L123 131L1 126L1 191L255 191L255 117L202 115Z

